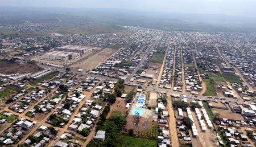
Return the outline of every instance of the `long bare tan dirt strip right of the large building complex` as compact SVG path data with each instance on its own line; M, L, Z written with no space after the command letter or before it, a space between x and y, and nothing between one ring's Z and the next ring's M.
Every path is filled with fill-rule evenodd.
M116 52L116 49L103 49L99 53L92 55L91 57L81 61L77 64L71 65L71 70L84 69L84 71L94 69L101 62L105 61L108 57L110 57L113 53Z

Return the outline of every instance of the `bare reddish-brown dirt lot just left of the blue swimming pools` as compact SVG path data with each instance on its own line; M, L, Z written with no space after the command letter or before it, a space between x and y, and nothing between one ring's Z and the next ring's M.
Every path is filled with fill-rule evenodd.
M122 115L125 115L127 111L125 106L126 106L125 98L116 98L116 102L112 104L110 107L110 112L107 114L107 118L111 116L113 111L120 111Z

